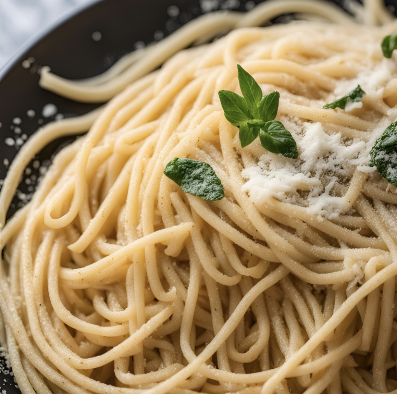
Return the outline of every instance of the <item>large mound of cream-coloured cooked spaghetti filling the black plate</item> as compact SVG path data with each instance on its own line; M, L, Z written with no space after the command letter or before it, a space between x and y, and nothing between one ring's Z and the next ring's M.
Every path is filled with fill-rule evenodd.
M218 99L221 89L239 93L241 64L264 91L280 92L278 118L296 126L300 153L302 123L320 122L347 147L367 143L396 118L396 76L366 92L362 108L322 107L341 80L383 62L379 43L394 26L238 29L140 75L148 58L155 68L156 55L162 62L194 29L192 41L236 22L209 18L100 80L67 82L43 70L43 86L77 100L125 89L33 135L1 191L4 216L32 155L90 129L55 157L1 231L0 339L23 393L397 389L393 187L354 164L318 177L319 198L338 199L338 215L313 213L299 187L295 200L255 199L242 171L277 157L258 141L241 148ZM210 164L225 197L184 193L163 175L177 157ZM326 190L330 172L337 179Z

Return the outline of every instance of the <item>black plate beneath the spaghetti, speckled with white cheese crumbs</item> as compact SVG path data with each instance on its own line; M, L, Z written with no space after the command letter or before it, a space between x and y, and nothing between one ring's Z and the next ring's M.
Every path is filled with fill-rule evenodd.
M66 78L91 77L103 72L142 43L160 39L201 15L203 6L209 6L211 10L226 7L245 11L260 1L103 0L77 10L66 21L58 22L29 49L22 48L0 70L0 179L5 177L9 163L19 149L18 144L33 134L40 124L57 116L43 117L44 105L55 104L58 116L65 117L84 114L99 105L76 103L42 90L38 86L37 69L40 66L48 65L52 71ZM333 2L338 5L344 3L343 0ZM397 0L387 0L386 3L397 8ZM93 36L94 32L101 34L99 41L94 39L98 36ZM9 138L14 141L13 146L9 145L12 144ZM66 137L52 142L32 160L28 167L31 173L21 183L8 217L29 198L51 155L71 140ZM6 368L1 356L0 390L5 390L7 394L20 393L12 372Z

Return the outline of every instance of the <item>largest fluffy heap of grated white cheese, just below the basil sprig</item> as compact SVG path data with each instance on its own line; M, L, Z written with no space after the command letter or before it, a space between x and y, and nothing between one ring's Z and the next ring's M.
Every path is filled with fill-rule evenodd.
M275 197L307 206L315 215L329 218L339 215L346 204L340 197L330 195L332 187L341 178L352 176L365 142L353 140L346 145L340 133L327 134L321 123L296 122L294 127L287 119L282 122L289 126L287 129L297 141L299 159L265 152L258 165L243 170L243 177L248 179L243 191L257 205ZM300 129L301 133L293 129ZM298 192L304 192L305 197Z

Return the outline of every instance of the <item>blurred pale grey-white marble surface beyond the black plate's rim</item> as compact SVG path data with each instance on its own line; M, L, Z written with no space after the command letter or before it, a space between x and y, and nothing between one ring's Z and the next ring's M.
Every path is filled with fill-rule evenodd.
M94 0L0 0L0 68L34 34Z

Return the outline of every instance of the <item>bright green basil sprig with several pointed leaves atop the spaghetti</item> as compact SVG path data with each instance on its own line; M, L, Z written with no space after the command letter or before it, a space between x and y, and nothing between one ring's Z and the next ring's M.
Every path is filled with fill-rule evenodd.
M241 146L244 148L259 136L262 146L269 152L297 159L297 143L293 136L281 122L274 120L280 94L271 92L263 96L261 87L243 67L238 65L237 71L243 97L229 90L221 90L218 95L225 118L239 127Z

